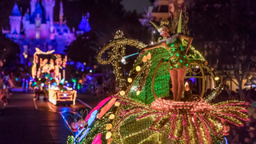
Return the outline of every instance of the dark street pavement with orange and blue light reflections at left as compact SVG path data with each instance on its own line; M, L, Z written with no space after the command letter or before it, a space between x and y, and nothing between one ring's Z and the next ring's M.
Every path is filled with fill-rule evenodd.
M0 144L65 144L67 136L72 135L65 125L73 121L68 114L90 112L98 104L90 94L78 94L75 106L54 106L42 98L17 91L10 96L0 116Z

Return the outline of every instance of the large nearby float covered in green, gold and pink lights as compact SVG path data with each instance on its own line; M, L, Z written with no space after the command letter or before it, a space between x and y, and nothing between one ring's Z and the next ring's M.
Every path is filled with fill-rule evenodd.
M186 18L186 14L181 15L178 14L171 26L175 26L176 30L178 27L178 33L187 34L187 21L183 22L183 18L182 21L180 18ZM187 44L185 41L182 46L186 47ZM146 50L138 55L129 77L124 79L119 62L125 57L126 46L134 46L139 50L146 47L138 40L125 38L119 30L114 40L99 51L98 62L113 66L121 90L99 102L85 119L81 117L79 122L75 119L70 126L74 136L69 136L67 143L226 143L223 135L228 132L227 123L243 126L242 121L248 119L246 102L211 102L221 93L222 84L218 82L214 68L208 65L194 46L189 46L187 54L184 55L188 62L184 64L185 79L201 78L202 93L193 94L190 87L185 85L182 98L178 101L169 98L170 83L173 83L169 73L172 70L170 60L173 57L170 56L173 53L165 46ZM170 46L174 47L172 43ZM108 58L102 59L106 50L111 52L108 53ZM177 49L174 48L173 51L175 50ZM179 57L178 53L176 56ZM214 90L206 96L205 73L210 74L214 81Z

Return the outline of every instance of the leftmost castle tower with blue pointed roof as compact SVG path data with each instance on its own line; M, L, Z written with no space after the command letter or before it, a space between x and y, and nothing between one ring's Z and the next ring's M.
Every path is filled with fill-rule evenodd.
M11 12L10 18L10 34L19 34L21 31L21 25L22 25L22 14L18 10L17 4L14 5L14 9Z

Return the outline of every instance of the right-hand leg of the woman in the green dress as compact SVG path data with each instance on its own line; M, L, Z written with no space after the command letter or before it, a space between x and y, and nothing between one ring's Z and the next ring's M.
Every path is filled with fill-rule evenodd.
M184 91L184 78L186 74L186 67L183 69L178 69L178 98L177 101L180 101L182 98L182 93Z

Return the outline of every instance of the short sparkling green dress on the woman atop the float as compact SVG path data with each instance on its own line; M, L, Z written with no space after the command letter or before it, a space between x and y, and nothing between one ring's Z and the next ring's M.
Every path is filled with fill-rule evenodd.
M170 38L166 38L166 49L169 52L170 70L184 68L189 65L186 57L186 48L182 46L182 42L178 39L178 34L174 34Z

